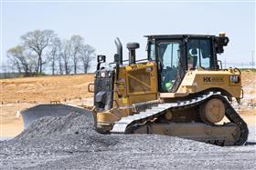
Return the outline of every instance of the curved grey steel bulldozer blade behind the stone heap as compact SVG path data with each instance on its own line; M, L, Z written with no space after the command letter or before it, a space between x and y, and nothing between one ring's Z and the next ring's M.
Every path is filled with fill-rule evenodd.
M26 129L35 120L46 116L66 116L71 112L89 115L93 120L93 116L90 110L75 105L63 105L63 104L43 104L35 105L28 109L22 110L20 114L23 118L24 129Z

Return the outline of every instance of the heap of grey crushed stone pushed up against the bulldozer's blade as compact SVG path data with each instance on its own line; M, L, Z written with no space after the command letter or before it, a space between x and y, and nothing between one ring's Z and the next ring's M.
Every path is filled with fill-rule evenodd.
M38 137L48 137L52 135L67 134L90 134L93 131L93 119L89 115L80 115L78 113L70 113L61 117L43 117L38 119L32 125L17 135L14 140L29 141Z

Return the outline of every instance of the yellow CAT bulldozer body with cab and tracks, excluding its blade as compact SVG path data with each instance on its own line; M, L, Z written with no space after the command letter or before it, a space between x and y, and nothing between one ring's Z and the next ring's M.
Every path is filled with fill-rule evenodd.
M243 97L238 68L223 69L219 55L229 37L146 35L147 56L136 58L138 43L123 45L107 64L97 56L88 91L91 113L101 134L173 135L213 145L244 145L249 130L230 105ZM228 120L224 122L223 120Z

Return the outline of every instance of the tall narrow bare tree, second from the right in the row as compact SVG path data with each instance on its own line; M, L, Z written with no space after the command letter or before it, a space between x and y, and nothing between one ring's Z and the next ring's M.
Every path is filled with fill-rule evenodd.
M74 74L77 74L79 55L80 55L81 46L83 44L83 38L80 35L72 35L69 40L69 44L70 44L70 55L72 57L73 66L74 66Z

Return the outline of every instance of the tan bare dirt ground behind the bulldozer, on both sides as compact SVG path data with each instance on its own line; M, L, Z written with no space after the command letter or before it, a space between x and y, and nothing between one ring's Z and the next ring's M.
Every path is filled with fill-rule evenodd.
M23 130L19 110L60 101L71 105L92 105L87 85L94 75L58 75L2 79L0 86L0 137L13 137ZM236 105L243 119L256 125L256 74L242 73L244 98ZM235 104L234 104L235 105Z

